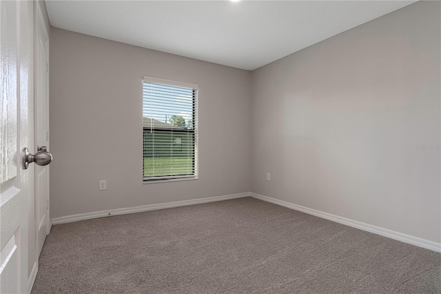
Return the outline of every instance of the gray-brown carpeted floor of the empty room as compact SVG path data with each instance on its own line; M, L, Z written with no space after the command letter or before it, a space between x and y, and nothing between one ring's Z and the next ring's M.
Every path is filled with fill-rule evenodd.
M32 293L441 293L441 254L247 197L52 226Z

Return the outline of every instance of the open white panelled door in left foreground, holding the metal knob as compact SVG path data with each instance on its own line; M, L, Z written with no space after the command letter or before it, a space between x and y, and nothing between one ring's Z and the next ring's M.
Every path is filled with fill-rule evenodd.
M28 145L29 52L32 26L27 1L0 1L0 293L28 291L28 170L21 150ZM30 32L31 31L31 32Z

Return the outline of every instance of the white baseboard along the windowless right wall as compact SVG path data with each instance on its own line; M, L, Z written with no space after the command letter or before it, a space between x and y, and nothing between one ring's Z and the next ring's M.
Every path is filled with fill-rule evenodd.
M377 235L382 235L384 237L389 237L391 239L396 239L398 241L412 244L415 246L419 246L422 248L427 248L432 251L441 252L441 244L429 241L427 239L421 239L419 237L413 237L411 235L406 235L403 233L399 233L396 231L388 230L387 228L380 228L379 226L372 226L370 224L365 224L362 222L357 222L353 219L347 219L345 217L339 217L338 215L332 215L331 213L324 213L320 210L315 210L312 208L307 208L305 206L300 206L296 204L292 204L289 202L285 202L282 200L278 200L275 198L267 197L264 195L259 195L256 193L250 193L251 197L260 199L266 202L271 202L273 204L278 204L280 206L285 206L287 208L291 208L294 210L301 211L302 213L308 213L309 215L315 215L316 217L321 217L323 219L329 219L332 222L338 222L339 224L345 224L347 226L351 226L353 228L359 228L360 230L367 231L370 233L374 233Z

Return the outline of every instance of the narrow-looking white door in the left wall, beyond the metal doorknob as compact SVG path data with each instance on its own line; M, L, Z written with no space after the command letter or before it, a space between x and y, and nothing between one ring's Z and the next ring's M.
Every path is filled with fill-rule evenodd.
M34 140L49 150L49 37L38 5L35 11ZM34 168L38 257L50 231L49 166Z

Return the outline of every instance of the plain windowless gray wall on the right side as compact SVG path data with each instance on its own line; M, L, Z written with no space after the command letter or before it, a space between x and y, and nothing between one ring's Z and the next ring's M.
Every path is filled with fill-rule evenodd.
M440 78L439 1L255 70L252 191L440 242Z

